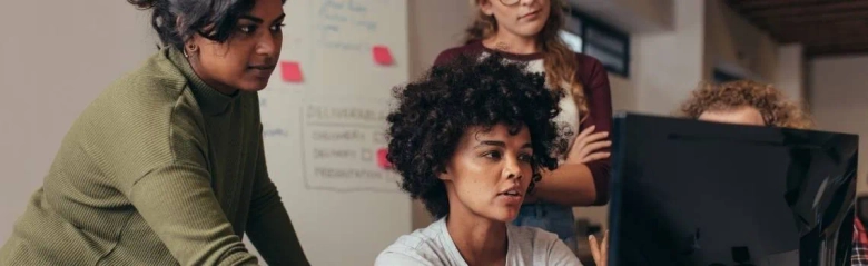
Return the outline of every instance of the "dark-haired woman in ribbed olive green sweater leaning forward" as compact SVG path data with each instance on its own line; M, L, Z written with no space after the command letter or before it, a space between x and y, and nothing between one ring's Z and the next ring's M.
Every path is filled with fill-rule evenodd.
M308 265L268 177L257 91L282 0L129 0L161 50L63 139L0 265Z

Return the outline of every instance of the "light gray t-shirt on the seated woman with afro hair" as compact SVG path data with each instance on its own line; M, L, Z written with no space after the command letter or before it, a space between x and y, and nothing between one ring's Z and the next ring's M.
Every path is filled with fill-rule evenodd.
M558 235L506 224L507 266L582 265ZM400 237L377 256L375 266L467 266L442 218L427 228Z

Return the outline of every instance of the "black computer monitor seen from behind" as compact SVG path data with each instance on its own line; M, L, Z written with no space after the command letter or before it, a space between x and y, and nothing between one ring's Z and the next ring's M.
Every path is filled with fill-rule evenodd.
M849 265L858 136L618 114L609 265Z

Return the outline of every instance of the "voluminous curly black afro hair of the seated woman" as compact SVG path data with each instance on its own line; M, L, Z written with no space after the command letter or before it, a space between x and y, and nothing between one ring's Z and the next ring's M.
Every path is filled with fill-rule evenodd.
M561 111L562 90L545 88L541 73L523 63L507 63L500 55L482 60L460 56L435 66L420 80L394 89L397 107L388 115L387 159L402 176L401 188L422 199L435 217L448 214L445 171L458 140L470 127L505 125L511 134L526 127L533 146L533 177L555 169L566 141L552 120Z

